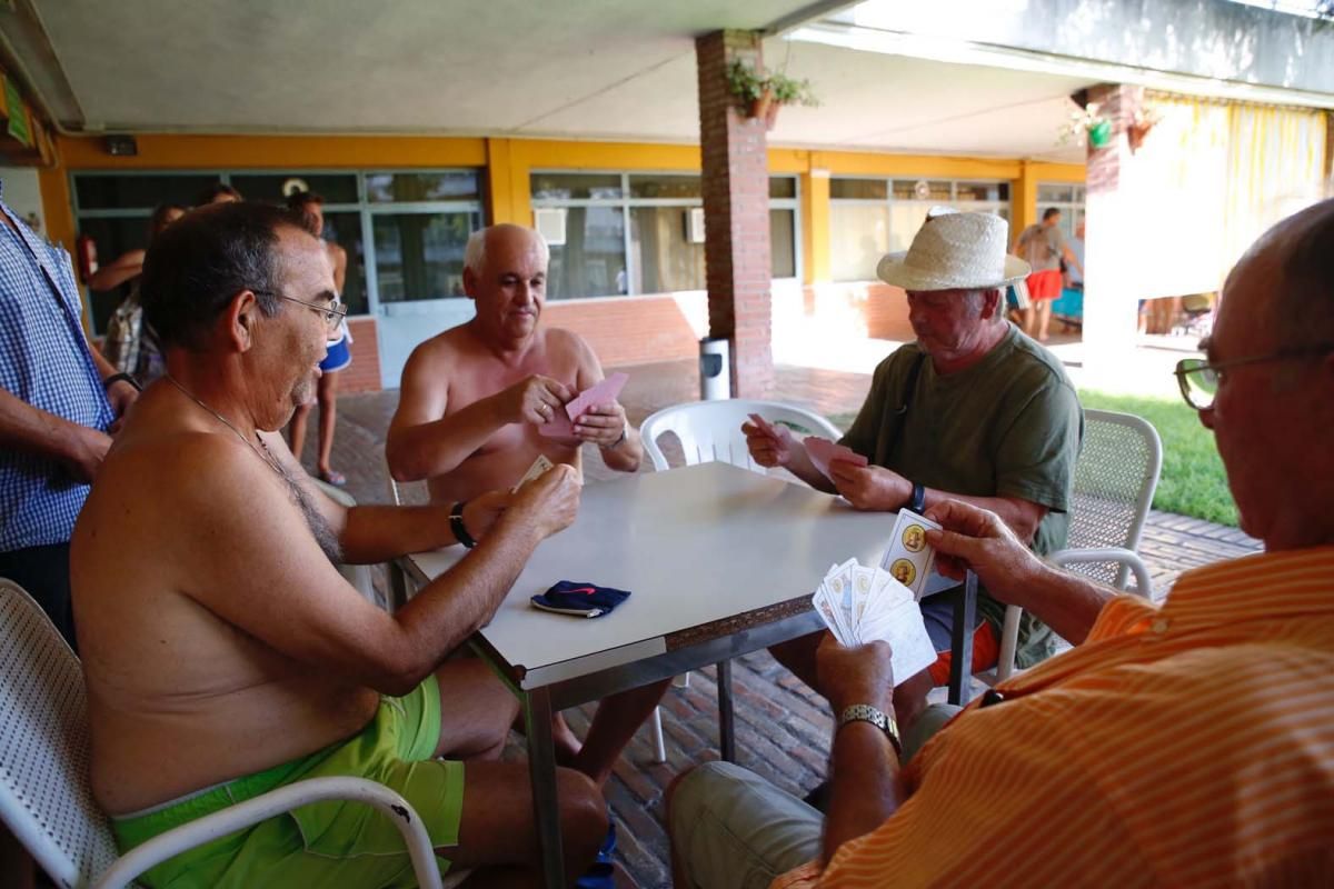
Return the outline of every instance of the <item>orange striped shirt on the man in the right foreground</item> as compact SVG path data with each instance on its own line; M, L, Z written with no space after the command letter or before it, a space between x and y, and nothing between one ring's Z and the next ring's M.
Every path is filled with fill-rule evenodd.
M772 889L1334 882L1334 546L1119 596L999 690L894 816Z

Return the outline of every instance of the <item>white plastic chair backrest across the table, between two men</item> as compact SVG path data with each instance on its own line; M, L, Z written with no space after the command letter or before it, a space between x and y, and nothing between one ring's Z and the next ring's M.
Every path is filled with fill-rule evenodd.
M648 458L654 461L654 469L659 472L671 469L671 464L658 439L672 432L680 440L687 466L698 462L730 462L763 473L764 466L751 460L746 436L742 435L742 424L751 413L758 413L770 423L792 427L798 439L816 435L836 441L842 435L832 423L812 411L779 401L743 399L691 401L663 408L644 420L639 427L639 435L644 440Z

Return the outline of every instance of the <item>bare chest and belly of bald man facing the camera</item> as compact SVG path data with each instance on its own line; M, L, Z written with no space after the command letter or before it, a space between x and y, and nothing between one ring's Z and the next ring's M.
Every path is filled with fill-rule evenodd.
M403 400L395 424L432 423L458 415L532 376L548 376L584 389L602 377L591 351L562 329L539 329L520 360L507 364L474 336L468 325L451 328L416 348L403 375ZM512 486L538 454L580 468L578 444L548 439L531 424L500 427L454 470L428 480L432 501L467 500Z

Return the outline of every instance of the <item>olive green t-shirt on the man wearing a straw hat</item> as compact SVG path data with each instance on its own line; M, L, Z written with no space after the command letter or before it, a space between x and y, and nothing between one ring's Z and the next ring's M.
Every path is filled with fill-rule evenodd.
M899 415L910 371L922 369ZM896 428L903 425L896 435ZM1047 508L1034 534L1039 556L1061 549L1069 529L1070 488L1083 439L1083 409L1054 355L1010 325L982 361L947 376L915 343L884 359L840 443L871 462L927 488L974 497L1019 497ZM999 630L1005 605L978 597ZM1025 613L1019 666L1050 652L1051 630Z

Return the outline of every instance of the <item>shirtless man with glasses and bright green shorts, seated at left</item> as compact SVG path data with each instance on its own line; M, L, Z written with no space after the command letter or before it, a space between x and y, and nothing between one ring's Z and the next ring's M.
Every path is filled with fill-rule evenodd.
M536 885L527 768L490 761L515 698L479 661L444 658L491 618L538 542L574 521L574 470L476 496L464 513L476 549L388 614L335 562L456 541L440 506L338 506L276 435L342 321L323 244L277 208L200 209L155 241L141 292L168 373L117 436L71 553L93 793L120 848L300 778L352 774L408 798L442 868ZM578 772L558 782L574 878L606 833L606 804ZM406 878L388 820L331 802L187 852L143 882Z

